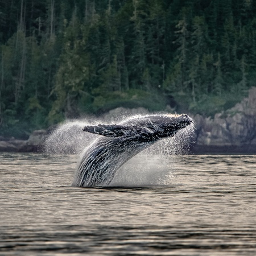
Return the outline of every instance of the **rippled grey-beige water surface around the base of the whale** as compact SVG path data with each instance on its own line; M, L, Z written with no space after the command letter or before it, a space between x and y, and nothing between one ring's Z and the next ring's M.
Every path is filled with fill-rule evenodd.
M147 156L76 188L75 156L1 154L0 255L256 255L255 160Z

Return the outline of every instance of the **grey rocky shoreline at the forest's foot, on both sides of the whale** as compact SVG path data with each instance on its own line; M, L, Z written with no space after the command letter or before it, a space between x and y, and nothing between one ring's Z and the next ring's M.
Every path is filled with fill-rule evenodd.
M119 108L112 110L105 119L112 120L124 111L129 115L146 110ZM192 154L256 154L256 87L250 89L249 97L213 118L199 114L191 117L195 120ZM37 130L26 141L0 137L0 152L42 152L47 136L46 130Z

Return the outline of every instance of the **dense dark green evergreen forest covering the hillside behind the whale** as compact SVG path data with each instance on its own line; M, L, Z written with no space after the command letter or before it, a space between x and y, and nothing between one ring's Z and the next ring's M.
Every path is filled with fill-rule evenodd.
M118 106L213 115L255 64L253 0L0 0L0 135Z

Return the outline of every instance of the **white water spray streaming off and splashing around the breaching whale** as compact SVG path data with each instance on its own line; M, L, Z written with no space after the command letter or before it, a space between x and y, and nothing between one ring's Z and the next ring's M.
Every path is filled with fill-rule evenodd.
M129 117L128 119L131 119ZM127 119L125 119L126 121ZM123 121L123 122L125 122ZM101 122L98 121L97 122ZM63 154L76 153L81 154L81 157L86 151L86 147L90 147L99 135L90 134L82 131L85 125L95 125L96 121L69 121L60 125L47 139L45 144L46 152ZM189 145L193 137L193 123L184 129L177 132L175 137L162 139L156 142L151 147L142 151L135 157L128 160L113 177L106 179L110 180L108 185L114 186L132 186L132 185L163 185L171 182L172 174L175 170L175 158L172 157L171 166L167 157L170 155L185 154L189 150ZM125 148L126 149L126 148ZM161 156L161 160L152 160L151 155ZM168 162L168 164L167 164ZM108 163L106 163L108 164ZM168 167L168 168L166 168ZM139 172L135 171L138 170Z

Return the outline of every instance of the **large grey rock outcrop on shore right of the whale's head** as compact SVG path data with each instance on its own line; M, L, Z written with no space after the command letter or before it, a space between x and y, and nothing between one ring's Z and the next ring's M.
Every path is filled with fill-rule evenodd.
M195 115L196 144L209 147L250 148L256 152L256 88L233 108L214 118Z

